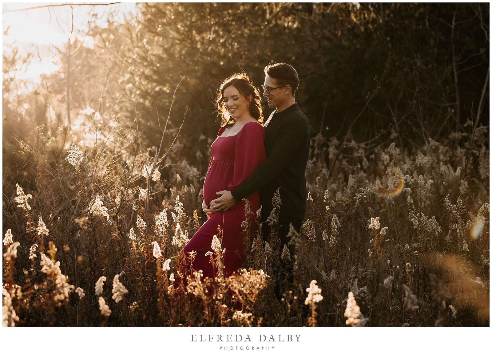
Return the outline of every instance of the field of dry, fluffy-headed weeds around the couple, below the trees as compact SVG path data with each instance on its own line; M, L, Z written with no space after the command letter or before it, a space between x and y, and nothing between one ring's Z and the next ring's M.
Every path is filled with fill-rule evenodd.
M245 269L184 287L177 256L206 218L203 173L179 142L142 148L120 116L88 115L92 142L41 126L4 146L4 326L489 324L488 128L404 151L397 136L372 150L313 138L295 255L255 237ZM210 140L197 144L206 166ZM295 288L278 303L280 258Z

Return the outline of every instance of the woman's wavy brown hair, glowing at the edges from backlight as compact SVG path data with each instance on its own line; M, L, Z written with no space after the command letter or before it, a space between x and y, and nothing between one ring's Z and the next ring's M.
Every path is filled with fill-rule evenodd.
M224 104L224 90L229 86L234 86L238 89L239 93L246 97L246 99L248 96L253 96L249 104L249 113L251 114L251 117L258 120L260 124L263 124L263 109L261 108L260 92L253 84L251 84L251 80L247 75L234 74L222 81L222 84L220 84L220 88L217 91L215 107L217 108L218 115L222 118L220 126L231 128L236 123L236 119L231 117Z

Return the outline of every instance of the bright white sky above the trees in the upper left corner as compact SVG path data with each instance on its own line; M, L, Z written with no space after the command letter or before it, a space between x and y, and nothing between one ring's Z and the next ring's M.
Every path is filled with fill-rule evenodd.
M34 53L31 64L19 78L29 80L33 85L40 82L40 74L52 73L58 70L58 63L53 46L62 49L63 42L68 40L71 27L70 6L32 9L21 12L5 12L8 10L52 4L55 2L3 2L2 26L3 32L8 28L8 34L2 36L2 50L4 44L13 44L19 48L21 54ZM118 3L113 5L77 5L73 7L73 28L87 32L90 14L96 14L95 24L106 27L106 19L111 13L115 20L123 21L125 14L136 12L134 2ZM77 34L79 39L84 34ZM74 36L72 35L72 38ZM89 47L92 43L85 39Z

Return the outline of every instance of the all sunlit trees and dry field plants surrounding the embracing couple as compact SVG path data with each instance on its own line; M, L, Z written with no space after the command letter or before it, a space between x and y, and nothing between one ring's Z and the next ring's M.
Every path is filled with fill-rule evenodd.
M34 91L30 57L4 49L6 324L489 324L487 4L139 6L80 29L93 47L66 43ZM245 269L184 279L214 91L274 61L312 127L296 252L246 223Z

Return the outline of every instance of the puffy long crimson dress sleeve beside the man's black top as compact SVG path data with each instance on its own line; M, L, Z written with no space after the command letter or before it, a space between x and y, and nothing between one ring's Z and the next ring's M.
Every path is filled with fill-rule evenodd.
M228 185L228 190L233 190L243 183L265 161L264 136L263 127L255 122L246 123L238 133L234 153L234 175L232 182Z

